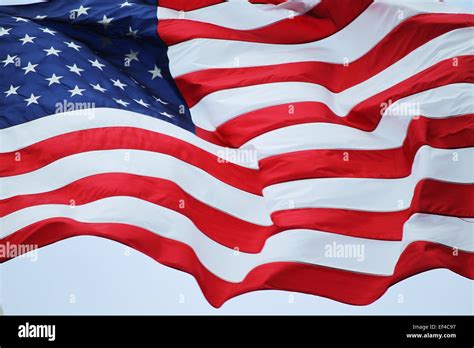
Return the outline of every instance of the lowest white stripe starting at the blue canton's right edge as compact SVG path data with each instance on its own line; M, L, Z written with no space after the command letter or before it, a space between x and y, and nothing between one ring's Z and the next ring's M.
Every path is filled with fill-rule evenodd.
M308 82L274 82L208 94L191 108L193 122L214 131L223 123L254 110L295 102L321 102L337 116L368 98L445 59L474 54L474 28L448 32L417 48L379 74L339 93Z

